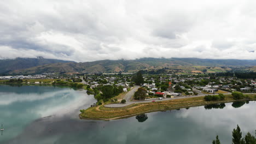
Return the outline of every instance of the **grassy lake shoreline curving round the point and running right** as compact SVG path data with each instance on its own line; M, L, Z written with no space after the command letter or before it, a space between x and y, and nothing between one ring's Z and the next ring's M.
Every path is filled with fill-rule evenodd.
M176 110L176 109L182 109L182 108L187 108L187 107L195 107L195 106L204 106L204 105L210 105L210 104L220 104L220 103L232 103L232 102L236 102L236 101L254 101L256 100L256 94L252 94L250 95L249 99L241 99L241 100L234 100L232 98L230 98L230 96L228 98L225 98L225 100L222 101L205 101L202 100L204 97L197 97L196 101L186 101L187 100L192 100L193 98L184 98L184 99L178 99L178 100L166 100L166 101L161 101L160 103L144 103L141 104L139 103L138 105L129 105L129 106L125 106L122 109L120 107L118 108L108 108L107 110L101 110L100 107L101 106L97 106L97 107L89 107L88 109L85 110L84 113L80 113L79 114L79 118L80 119L92 119L92 120L103 120L103 121L110 121L110 120L114 120L114 119L123 119L123 118L129 118L129 117L133 117L136 115L141 115L143 113L150 113L150 112L157 112L157 111L166 111L166 110ZM179 101L180 100L180 101ZM185 101L183 101L185 100ZM174 103L180 103L182 106L172 106L172 104ZM148 107L148 106L154 106L154 105L158 105L159 109L157 107L150 109L152 107ZM164 106L164 105L168 105L168 106ZM170 106L171 105L171 106ZM125 111L130 111L133 109L137 109L139 107L148 107L148 110L141 110L139 112L130 112L127 113L127 115L124 115ZM160 108L163 107L163 108ZM131 109L130 109L131 108ZM132 109L133 108L133 109ZM94 109L94 111L90 112L91 109ZM115 112L115 116L113 114L113 116L109 116L109 111ZM87 115L86 115L87 113ZM90 114L94 114L94 115L90 115ZM119 113L119 115L116 115L116 113ZM105 115L104 115L105 114Z

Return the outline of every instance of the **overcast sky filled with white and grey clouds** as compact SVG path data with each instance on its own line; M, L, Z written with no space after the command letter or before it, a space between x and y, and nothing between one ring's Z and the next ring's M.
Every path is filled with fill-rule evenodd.
M2 0L0 59L256 59L255 7L254 0Z

